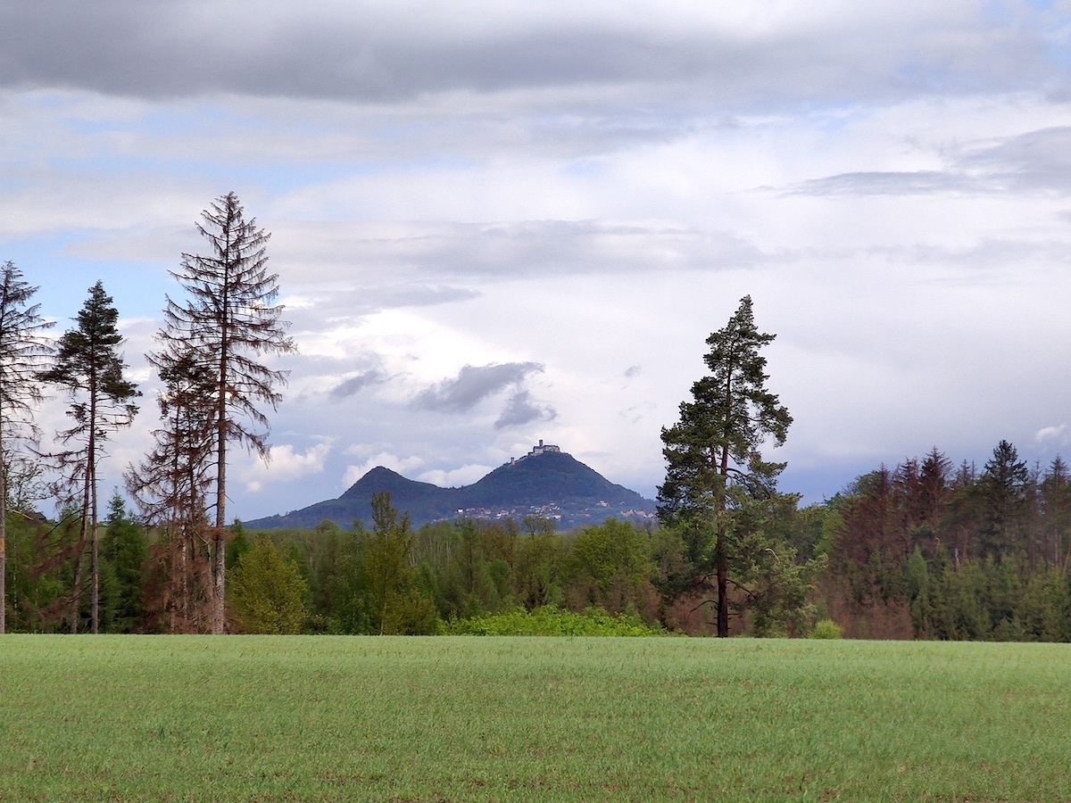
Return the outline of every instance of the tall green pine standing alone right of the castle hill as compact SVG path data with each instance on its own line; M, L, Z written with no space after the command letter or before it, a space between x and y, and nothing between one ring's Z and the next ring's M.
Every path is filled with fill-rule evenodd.
M770 497L784 466L763 463L759 445L772 438L785 441L791 415L778 396L766 390L766 358L759 350L774 335L755 328L752 301L740 307L721 330L707 338L709 374L692 385L692 400L680 405L680 420L662 429L668 464L659 488L659 517L683 527L688 540L688 577L676 590L699 589L714 578L718 635L728 635L729 564L742 557L741 530L730 514L745 498ZM736 555L734 555L736 552Z

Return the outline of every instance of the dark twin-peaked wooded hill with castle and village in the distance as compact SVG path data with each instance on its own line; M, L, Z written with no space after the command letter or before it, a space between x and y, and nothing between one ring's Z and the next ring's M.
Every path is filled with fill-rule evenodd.
M439 519L547 516L562 528L602 524L607 517L653 518L654 502L616 485L564 452L532 454L499 466L472 485L440 488L408 480L377 466L337 499L247 521L251 529L316 527L329 519L350 527L360 519L372 526L372 496L390 491L392 504L408 513L413 525Z

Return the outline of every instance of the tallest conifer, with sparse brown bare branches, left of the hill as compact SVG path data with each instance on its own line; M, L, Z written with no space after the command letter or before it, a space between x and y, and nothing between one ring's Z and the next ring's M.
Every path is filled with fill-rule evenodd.
M209 253L183 254L180 270L171 272L187 298L183 303L168 298L161 338L212 375L205 404L215 460L213 633L224 631L227 444L233 441L268 457L268 419L258 405L277 408L276 388L286 382L287 372L269 368L261 357L296 350L280 320L283 307L274 305L278 275L268 272L271 236L243 212L238 196L228 193L201 213L197 230Z

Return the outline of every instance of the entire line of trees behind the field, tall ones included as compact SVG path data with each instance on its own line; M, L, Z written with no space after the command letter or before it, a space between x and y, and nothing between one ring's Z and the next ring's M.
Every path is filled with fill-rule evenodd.
M96 461L130 425L111 300L100 283L54 344L33 289L0 273L0 577L17 630L140 633L428 634L473 618L570 609L716 636L1071 640L1071 471L1030 468L1001 441L981 469L937 449L800 506L785 464L761 450L793 423L769 391L744 297L707 338L708 373L662 430L657 525L607 519L558 532L548 519L410 526L389 495L371 522L247 533L225 525L228 444L267 455L267 418L293 350L273 302L268 234L237 198L202 213L209 255L183 255L157 350L154 446L97 522ZM5 329L6 327L6 329ZM95 349L95 350L94 350ZM65 446L33 443L45 388L70 397ZM100 450L100 451L99 451ZM48 460L61 480L42 480ZM34 513L62 490L56 520ZM6 548L5 548L6 547ZM84 561L91 594L82 593ZM3 589L0 589L3 590ZM0 622L4 622L0 619Z

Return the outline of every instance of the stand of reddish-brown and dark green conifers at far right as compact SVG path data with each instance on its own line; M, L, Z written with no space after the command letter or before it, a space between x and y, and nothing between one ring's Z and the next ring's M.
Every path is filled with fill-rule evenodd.
M1064 461L1031 472L1001 441L982 472L953 473L937 450L919 466L860 478L828 506L830 599L844 621L901 610L910 630L884 635L1071 640Z

